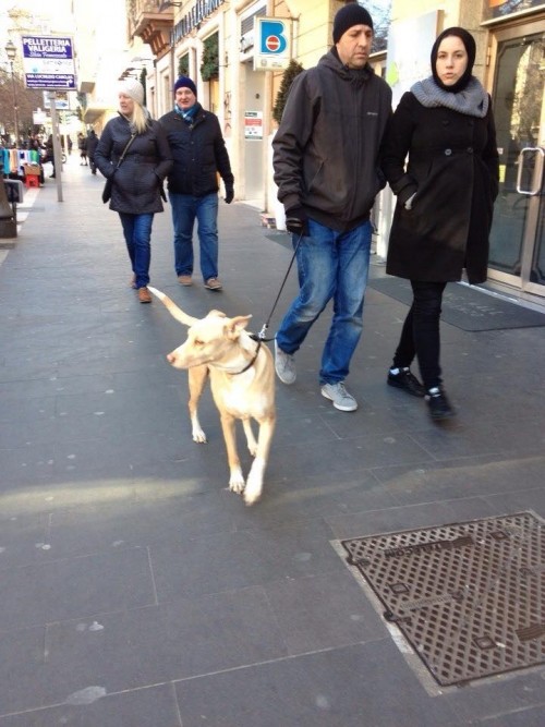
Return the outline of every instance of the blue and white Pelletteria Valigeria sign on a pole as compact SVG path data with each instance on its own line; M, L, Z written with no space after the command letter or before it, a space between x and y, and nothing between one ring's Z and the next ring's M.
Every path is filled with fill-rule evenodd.
M77 90L72 38L23 35L21 41L27 88Z

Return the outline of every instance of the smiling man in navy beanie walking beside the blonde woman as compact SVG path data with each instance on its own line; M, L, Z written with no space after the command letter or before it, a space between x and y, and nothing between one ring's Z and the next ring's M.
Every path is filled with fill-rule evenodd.
M197 101L187 76L174 84L174 110L159 119L172 150L168 175L174 228L174 268L182 286L193 283L193 228L197 221L201 272L205 288L221 290L218 278L218 173L226 202L234 197L234 178L218 118Z

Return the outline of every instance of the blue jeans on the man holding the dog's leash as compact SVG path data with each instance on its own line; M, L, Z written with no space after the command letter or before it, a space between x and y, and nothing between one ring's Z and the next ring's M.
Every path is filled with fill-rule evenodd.
M367 286L371 222L350 232L336 232L308 220L308 237L298 247L299 295L276 335L286 353L295 353L311 326L334 300L334 317L322 354L320 384L338 384L348 376L350 360L363 328ZM299 235L292 235L295 246Z

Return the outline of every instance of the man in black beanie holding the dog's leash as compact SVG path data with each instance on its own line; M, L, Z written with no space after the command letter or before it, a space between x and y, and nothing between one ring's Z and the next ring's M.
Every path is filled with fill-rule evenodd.
M344 388L363 327L372 227L384 186L378 149L391 113L391 90L368 64L373 21L355 2L334 20L334 46L293 81L275 135L278 198L296 250L300 292L275 340L283 384L295 380L294 353L332 299L322 355L322 395L340 411L358 402Z

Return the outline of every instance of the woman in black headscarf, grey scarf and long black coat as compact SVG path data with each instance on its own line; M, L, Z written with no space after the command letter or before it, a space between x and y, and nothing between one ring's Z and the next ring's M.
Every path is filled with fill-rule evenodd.
M472 75L474 61L473 37L444 31L432 49L433 75L401 97L382 150L397 195L386 271L408 278L413 291L388 384L425 396L433 420L455 413L439 364L443 293L463 269L470 283L486 280L498 193L491 98ZM410 371L414 356L423 385Z

